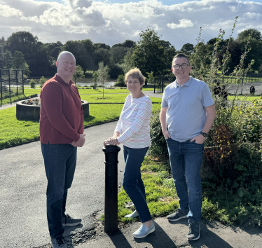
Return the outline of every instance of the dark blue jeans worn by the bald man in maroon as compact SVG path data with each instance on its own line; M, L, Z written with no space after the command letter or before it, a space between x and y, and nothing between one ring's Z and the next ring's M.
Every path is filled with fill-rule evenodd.
M71 144L41 144L48 186L46 208L50 237L62 236L62 216L76 169L76 147Z

